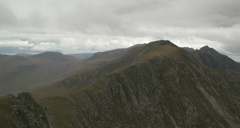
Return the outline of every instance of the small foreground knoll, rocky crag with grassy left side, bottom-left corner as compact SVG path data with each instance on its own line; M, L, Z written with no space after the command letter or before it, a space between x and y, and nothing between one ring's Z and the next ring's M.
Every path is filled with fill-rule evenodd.
M1 113L1 127L17 128L49 128L54 126L50 112L37 104L30 93L20 93L17 97L8 95L1 107L5 110ZM6 108L8 108L6 111Z

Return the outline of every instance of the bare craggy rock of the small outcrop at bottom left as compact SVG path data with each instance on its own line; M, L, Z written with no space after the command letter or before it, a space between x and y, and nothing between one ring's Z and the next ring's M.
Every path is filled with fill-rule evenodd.
M30 93L20 93L17 97L11 96L11 98L14 100L14 103L11 106L12 111L10 112L10 116L12 119L10 120L11 126L9 127L54 127L49 110L37 104Z

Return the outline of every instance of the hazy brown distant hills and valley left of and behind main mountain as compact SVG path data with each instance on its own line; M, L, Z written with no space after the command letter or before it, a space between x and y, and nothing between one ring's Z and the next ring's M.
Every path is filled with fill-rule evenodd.
M17 94L38 85L59 81L82 70L103 66L123 56L131 48L87 54L88 57L82 57L84 59L73 57L79 57L78 55L63 55L58 52L36 55L0 54L0 96Z

